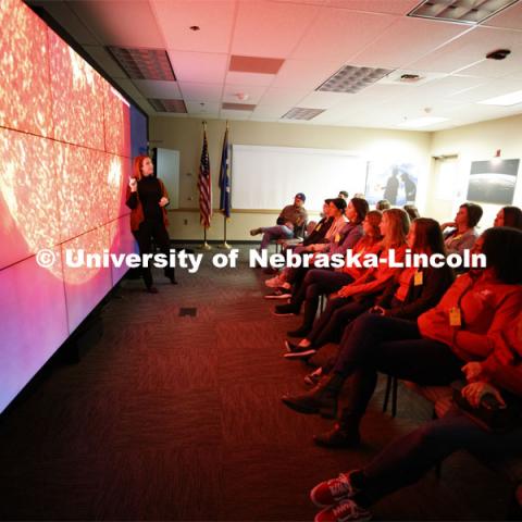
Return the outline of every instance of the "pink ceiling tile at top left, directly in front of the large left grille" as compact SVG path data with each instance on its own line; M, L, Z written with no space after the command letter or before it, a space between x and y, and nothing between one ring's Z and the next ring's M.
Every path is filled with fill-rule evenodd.
M104 0L92 2L75 0L67 2L99 40L109 46L164 48L161 33L148 1ZM139 26L137 22L139 21ZM140 30L146 27L147 30Z

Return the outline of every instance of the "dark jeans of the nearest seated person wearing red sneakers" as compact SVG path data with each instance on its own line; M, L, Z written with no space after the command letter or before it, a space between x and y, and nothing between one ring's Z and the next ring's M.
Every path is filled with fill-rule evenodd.
M371 504L418 482L452 452L465 449L488 456L521 455L522 428L487 432L471 419L452 412L427 422L386 446L362 471L363 494Z

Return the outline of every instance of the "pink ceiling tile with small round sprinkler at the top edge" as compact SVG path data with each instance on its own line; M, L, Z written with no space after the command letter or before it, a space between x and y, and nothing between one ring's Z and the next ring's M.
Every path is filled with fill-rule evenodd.
M150 0L167 49L228 52L235 0ZM197 25L200 30L190 30Z

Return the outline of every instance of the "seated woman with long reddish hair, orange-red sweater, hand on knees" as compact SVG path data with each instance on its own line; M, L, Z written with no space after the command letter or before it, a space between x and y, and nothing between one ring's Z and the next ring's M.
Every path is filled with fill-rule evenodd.
M397 261L403 258L409 225L410 220L403 210L390 209L384 212L380 225L381 234L383 235L380 259L388 259L390 249L395 250L395 259ZM389 268L387 263L380 263L378 268L369 269L353 281L350 273L310 270L299 291L293 294L290 302L275 307L274 313L276 315L297 314L304 303L302 324L289 335L306 336L312 331L319 307L319 297L322 294L331 294L328 304L316 322L320 326L314 328L316 332L319 330L319 335L336 310L348 304L357 307L357 312L353 311L353 313L362 313L364 310L368 310L374 300L375 294L383 290L386 283L397 271L398 269Z

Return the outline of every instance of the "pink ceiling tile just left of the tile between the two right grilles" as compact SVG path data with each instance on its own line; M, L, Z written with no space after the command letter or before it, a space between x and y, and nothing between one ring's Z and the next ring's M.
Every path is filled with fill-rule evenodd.
M291 58L348 62L396 20L390 14L323 9Z

